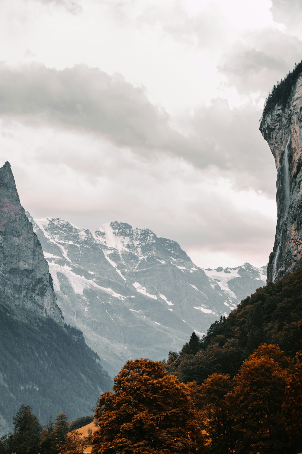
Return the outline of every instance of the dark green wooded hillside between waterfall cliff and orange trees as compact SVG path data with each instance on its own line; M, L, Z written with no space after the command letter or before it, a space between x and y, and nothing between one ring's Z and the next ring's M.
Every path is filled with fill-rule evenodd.
M200 340L195 333L178 352L170 352L169 373L201 384L218 372L234 376L242 362L264 342L278 344L290 357L300 348L302 318L302 270L259 288L237 309L214 322Z

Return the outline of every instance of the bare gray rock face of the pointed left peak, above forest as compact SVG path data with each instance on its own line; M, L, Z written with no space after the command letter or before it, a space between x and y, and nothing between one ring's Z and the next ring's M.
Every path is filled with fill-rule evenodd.
M41 244L21 207L10 163L0 168L0 292L3 301L62 324Z

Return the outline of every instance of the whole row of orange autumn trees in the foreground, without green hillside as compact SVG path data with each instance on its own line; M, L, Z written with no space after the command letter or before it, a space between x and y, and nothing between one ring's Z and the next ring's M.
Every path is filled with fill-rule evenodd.
M302 354L260 345L239 373L197 385L128 361L101 396L93 454L293 454L302 450Z

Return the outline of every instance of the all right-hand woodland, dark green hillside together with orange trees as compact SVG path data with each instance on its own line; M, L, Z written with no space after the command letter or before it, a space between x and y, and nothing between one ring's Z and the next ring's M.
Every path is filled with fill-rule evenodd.
M168 361L129 361L101 396L92 453L301 453L301 315L299 270Z

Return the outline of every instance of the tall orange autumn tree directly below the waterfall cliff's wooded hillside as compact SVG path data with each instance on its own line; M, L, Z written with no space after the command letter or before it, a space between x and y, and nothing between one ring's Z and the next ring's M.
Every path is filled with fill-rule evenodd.
M278 345L260 345L244 361L227 396L236 454L288 452L281 412L291 361Z

